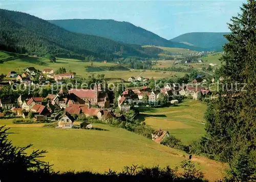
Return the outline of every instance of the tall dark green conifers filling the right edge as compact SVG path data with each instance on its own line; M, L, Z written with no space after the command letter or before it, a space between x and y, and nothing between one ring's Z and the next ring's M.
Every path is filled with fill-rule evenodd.
M249 0L241 10L242 14L231 19L231 34L225 36L229 42L224 46L221 58L224 65L218 72L225 87L208 104L207 134L201 145L205 153L229 164L232 181L253 181L256 180L256 2ZM236 87L236 83L240 84Z

